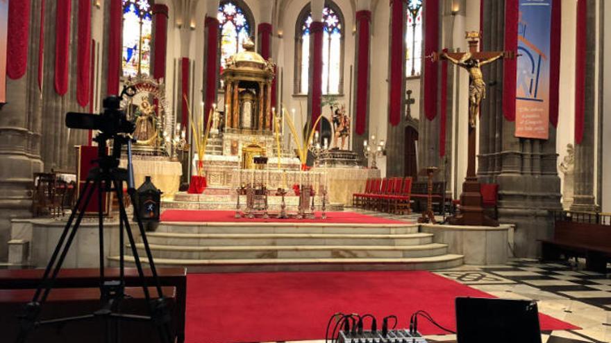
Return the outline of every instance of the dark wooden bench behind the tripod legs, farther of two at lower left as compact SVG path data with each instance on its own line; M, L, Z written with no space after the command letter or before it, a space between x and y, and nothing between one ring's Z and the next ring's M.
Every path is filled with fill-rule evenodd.
M174 289L176 297L176 335L178 342L185 340L185 310L187 306L187 270L185 268L158 268L157 273L162 286ZM0 290L31 290L37 288L44 274L42 269L0 270ZM119 268L106 268L106 279L118 279ZM153 285L150 270L144 269L147 285ZM125 269L126 287L142 286L135 268ZM94 288L99 287L99 269L79 268L60 270L54 288ZM51 291L51 294L55 290ZM97 291L99 298L99 291ZM151 293L156 294L156 293ZM165 295L165 293L164 293ZM26 299L30 301L31 299Z

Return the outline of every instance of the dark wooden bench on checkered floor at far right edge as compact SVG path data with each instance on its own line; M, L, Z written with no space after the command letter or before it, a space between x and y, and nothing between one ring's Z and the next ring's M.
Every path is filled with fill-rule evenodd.
M611 227L586 222L558 220L554 236L540 240L544 261L558 261L565 257L585 257L586 269L605 274L611 261Z

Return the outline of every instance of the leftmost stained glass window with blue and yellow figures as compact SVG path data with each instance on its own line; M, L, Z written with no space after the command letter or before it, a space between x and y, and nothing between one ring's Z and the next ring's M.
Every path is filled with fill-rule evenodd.
M123 1L123 76L149 75L153 16L149 0Z

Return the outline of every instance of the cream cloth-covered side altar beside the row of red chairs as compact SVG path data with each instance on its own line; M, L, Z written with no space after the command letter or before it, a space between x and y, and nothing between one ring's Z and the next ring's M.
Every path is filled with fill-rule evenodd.
M315 167L326 175L328 201L352 206L352 195L365 191L367 179L380 177L379 169L350 167Z

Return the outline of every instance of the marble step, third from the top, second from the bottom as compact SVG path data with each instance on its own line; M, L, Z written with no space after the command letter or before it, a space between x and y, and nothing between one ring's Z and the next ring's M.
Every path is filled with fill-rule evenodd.
M144 245L136 243L138 254L144 256ZM402 247L378 245L293 245L293 246L225 246L201 247L150 244L155 258L192 260L244 258L408 258L447 254L448 245L430 243Z

